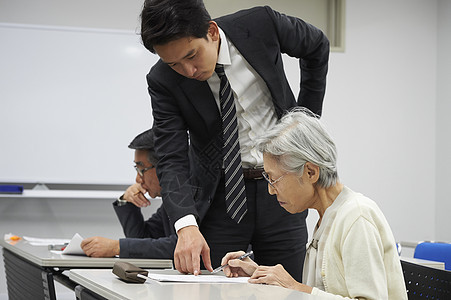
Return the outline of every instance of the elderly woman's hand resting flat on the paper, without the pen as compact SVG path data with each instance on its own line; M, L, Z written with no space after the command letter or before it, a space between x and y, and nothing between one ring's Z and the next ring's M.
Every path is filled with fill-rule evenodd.
M308 294L312 293L312 288L310 286L294 280L282 265L276 265L274 267L259 266L252 274L249 282L278 285Z

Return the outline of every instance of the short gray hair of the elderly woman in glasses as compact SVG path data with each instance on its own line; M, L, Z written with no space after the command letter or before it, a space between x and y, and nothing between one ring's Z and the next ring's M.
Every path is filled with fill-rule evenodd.
M257 142L257 148L271 155L286 172L302 175L306 162L319 167L320 187L338 181L335 143L319 120L307 108L296 107Z

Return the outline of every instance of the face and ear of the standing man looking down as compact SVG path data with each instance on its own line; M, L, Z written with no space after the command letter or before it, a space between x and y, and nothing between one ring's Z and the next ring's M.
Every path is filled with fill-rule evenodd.
M218 25L211 21L206 39L185 37L156 45L154 49L161 60L180 75L205 81L215 71L219 40Z

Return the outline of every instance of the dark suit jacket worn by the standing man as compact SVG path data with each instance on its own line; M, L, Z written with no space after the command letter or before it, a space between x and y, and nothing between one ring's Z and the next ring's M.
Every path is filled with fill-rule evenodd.
M278 118L297 105L321 114L329 42L320 30L269 7L243 10L216 22L266 82ZM297 100L285 76L282 53L299 58L302 78ZM201 221L222 167L222 125L213 94L207 82L183 77L161 60L150 70L147 82L164 206L171 223L187 214ZM195 162L191 164L189 146Z

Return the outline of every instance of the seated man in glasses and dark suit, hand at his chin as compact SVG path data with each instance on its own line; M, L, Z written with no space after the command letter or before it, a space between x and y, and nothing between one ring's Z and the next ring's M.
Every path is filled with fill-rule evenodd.
M163 207L144 221L141 207L150 205L144 196L160 196L160 184L156 175L157 159L152 129L139 134L128 146L135 149L136 183L113 203L114 210L124 229L125 239L104 237L84 239L81 248L92 257L160 258L172 259L177 236L169 223Z

